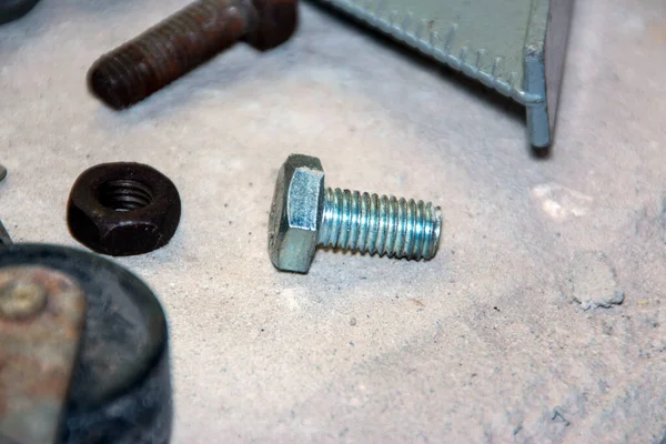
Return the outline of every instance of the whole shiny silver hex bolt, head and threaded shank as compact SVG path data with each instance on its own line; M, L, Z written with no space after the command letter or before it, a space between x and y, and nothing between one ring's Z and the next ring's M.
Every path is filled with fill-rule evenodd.
M325 188L321 161L292 154L275 182L269 251L276 269L299 273L307 273L317 245L430 260L441 229L440 206Z

